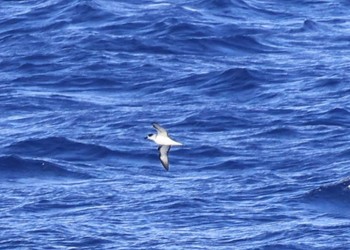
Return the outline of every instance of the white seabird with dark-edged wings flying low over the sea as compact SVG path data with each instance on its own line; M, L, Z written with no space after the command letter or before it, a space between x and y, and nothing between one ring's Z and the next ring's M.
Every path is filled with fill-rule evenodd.
M182 143L174 141L168 135L168 132L162 128L158 123L153 123L152 126L157 130L157 134L149 134L145 139L154 141L159 145L159 159L165 168L165 170L169 170L169 158L168 152L171 146L180 146Z

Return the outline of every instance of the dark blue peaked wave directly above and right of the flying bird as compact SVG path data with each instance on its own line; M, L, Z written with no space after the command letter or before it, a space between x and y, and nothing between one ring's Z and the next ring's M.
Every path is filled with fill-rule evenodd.
M236 98L239 100L254 101L253 97L259 98L275 98L276 95L264 95L259 91L262 87L261 83L266 81L266 74L258 70L247 68L229 68L225 70L217 70L206 73L193 73L183 78L169 81L165 88L159 81L144 82L134 84L138 91L147 94L157 95L159 92L174 93L180 92L184 96L191 96L193 101L202 101L203 95L208 97L224 97ZM133 87L130 87L133 88ZM261 96L262 95L262 96ZM193 97L200 97L194 99ZM185 98L184 102L187 101Z

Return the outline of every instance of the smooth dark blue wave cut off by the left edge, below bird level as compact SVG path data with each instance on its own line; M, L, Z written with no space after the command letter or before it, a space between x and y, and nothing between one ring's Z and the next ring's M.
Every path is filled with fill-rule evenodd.
M0 157L0 178L90 178L91 176L65 169L55 163L19 156Z

